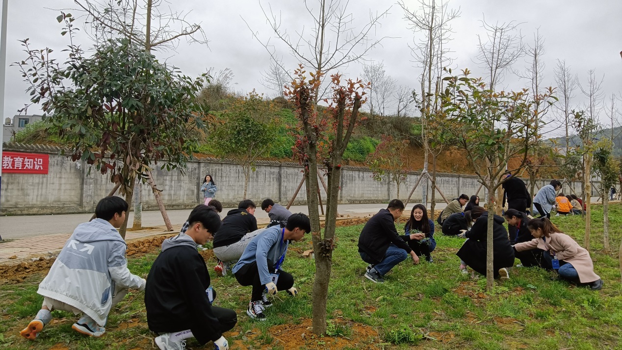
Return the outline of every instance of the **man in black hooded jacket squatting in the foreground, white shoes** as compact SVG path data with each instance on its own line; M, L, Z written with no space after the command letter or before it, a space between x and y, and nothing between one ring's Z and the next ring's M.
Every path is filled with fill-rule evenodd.
M220 228L220 217L213 208L198 205L188 218L190 226L162 242L162 252L147 277L145 306L149 329L160 335L160 350L185 348L185 339L198 343L213 341L216 349L227 350L223 332L238 322L235 311L212 306L215 292L197 244L205 244Z

